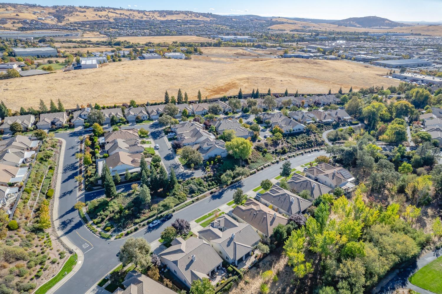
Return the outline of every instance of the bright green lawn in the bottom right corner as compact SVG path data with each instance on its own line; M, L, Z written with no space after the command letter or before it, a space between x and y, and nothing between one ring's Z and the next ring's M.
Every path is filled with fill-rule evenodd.
M408 280L413 285L429 290L436 294L442 294L442 256L431 261Z

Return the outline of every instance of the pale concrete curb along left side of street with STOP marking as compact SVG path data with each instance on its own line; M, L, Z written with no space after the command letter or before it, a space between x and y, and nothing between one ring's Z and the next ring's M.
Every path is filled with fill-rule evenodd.
M77 263L74 266L74 268L72 269L72 271L69 272L69 274L67 274L63 279L61 279L52 288L50 288L46 292L46 294L52 294L55 291L57 291L58 288L63 286L64 283L66 283L73 275L75 275L75 273L77 271L80 270L80 268L81 268L81 266L83 265L83 262L84 262L83 251L81 251L80 248L78 248L71 241L69 241L68 237L64 236L64 233L61 230L58 229L58 227L60 226L60 222L58 220L58 215L57 215L58 199L59 199L59 196L60 196L61 174L63 173L63 161L64 161L64 158L65 158L66 141L65 141L65 139L62 139L62 138L57 138L57 139L61 140L61 142L63 143L63 146L61 147L60 158L59 158L59 162L58 162L57 188L55 189L52 218L53 218L54 227L55 227L55 230L56 230L56 232L58 234L58 237L60 237L61 241L63 241L68 247L70 247L77 254Z

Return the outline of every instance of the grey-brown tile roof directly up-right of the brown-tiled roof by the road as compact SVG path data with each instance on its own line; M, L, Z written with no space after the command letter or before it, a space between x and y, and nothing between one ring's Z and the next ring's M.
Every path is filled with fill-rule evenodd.
M290 191L287 191L277 185L259 196L261 199L273 206L286 211L290 215L304 212L308 207L312 205L312 202L305 200Z

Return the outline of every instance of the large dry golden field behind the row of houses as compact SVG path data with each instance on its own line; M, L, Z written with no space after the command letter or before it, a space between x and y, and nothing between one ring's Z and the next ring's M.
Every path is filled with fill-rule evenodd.
M8 107L38 106L40 98L48 105L50 98L60 98L65 107L87 102L113 105L163 100L164 91L175 95L178 88L196 98L250 93L259 87L264 92L326 93L339 87L397 85L381 75L383 68L345 60L217 58L194 56L192 60L134 60L105 64L98 69L55 72L16 79L0 80L1 96Z

